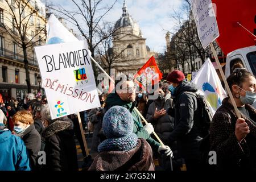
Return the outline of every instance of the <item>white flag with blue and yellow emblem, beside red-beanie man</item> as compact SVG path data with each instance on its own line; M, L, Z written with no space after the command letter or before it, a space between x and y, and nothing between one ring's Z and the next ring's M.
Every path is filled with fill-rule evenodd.
M200 93L207 98L214 114L218 107L221 106L222 100L227 96L209 58L204 62L191 82L196 84Z

